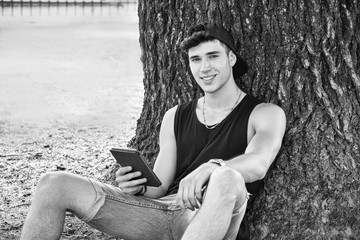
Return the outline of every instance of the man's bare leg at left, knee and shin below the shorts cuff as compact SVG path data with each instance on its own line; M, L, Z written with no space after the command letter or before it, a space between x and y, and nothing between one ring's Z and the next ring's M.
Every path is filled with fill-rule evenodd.
M96 197L92 184L83 177L56 172L38 182L20 239L59 239L65 212L83 217Z

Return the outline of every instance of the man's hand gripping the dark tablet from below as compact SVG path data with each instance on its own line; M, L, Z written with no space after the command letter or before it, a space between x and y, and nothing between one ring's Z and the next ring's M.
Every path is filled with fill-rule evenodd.
M141 176L141 172L131 172L132 167L120 167L116 171L115 182L118 184L118 187L126 194L134 195L141 191L142 186L146 183L146 178L139 178L132 180Z

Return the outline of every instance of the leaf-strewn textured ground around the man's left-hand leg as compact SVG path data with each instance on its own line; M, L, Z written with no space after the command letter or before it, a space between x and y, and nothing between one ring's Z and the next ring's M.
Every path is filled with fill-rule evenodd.
M17 239L40 176L66 171L112 183L109 150L126 147L134 129L59 127L0 132L0 239ZM66 214L61 239L117 239Z

